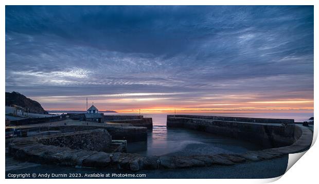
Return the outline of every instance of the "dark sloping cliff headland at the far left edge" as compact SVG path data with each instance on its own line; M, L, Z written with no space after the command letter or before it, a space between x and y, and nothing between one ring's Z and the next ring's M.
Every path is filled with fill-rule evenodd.
M29 108L30 113L48 114L44 111L41 104L37 101L31 100L20 93L13 91L12 93L6 92L6 106L17 105L24 108Z

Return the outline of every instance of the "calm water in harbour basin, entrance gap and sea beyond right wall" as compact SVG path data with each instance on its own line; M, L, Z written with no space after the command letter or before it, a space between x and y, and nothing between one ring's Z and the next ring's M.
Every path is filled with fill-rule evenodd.
M106 114L106 113L105 113ZM184 128L167 128L166 114L143 114L153 119L153 131L148 133L147 142L135 142L128 145L128 152L141 155L191 155L209 153L241 153L249 150L260 150L260 146L232 138L191 131ZM306 121L311 113L292 114L198 114L215 116L236 116L255 118L289 118L295 121Z

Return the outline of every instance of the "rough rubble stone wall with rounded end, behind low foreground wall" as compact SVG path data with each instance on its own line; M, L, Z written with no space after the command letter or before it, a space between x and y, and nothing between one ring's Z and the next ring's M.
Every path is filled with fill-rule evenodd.
M34 137L33 139L44 145L55 145L75 150L90 151L107 151L112 143L111 135L107 130L101 128L91 131Z

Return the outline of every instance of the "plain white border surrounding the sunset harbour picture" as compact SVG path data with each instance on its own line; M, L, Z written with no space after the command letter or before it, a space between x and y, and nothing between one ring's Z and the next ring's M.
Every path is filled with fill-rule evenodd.
M197 1L189 1L189 0L175 0L175 1L169 1L169 0L158 0L158 1L145 1L145 0L135 0L135 1L126 1L126 0L112 0L112 1L98 1L98 0L91 0L91 1L69 1L69 0L47 0L47 1L39 1L39 0L29 0L29 1L23 1L23 0L3 0L1 1L2 6L0 7L1 12L1 21L0 21L0 27L1 27L1 102L5 102L5 5L314 5L314 70L318 71L318 57L316 53L319 53L318 50L318 36L317 33L319 31L318 29L318 2L314 0L224 0L224 1L214 1L214 0L197 0ZM318 117L318 74L314 72L314 117ZM316 84L317 82L317 84ZM5 111L5 106L0 106L2 112ZM1 119L5 119L4 114L1 114ZM317 124L314 125L314 138L312 145L314 145L314 142L317 138L318 134L318 126ZM3 137L2 145L4 147L5 144L5 132L2 131L1 136ZM314 145L311 148L311 151L306 153L307 156L303 157L300 161L297 162L295 166L292 167L285 175L282 176L282 179L279 180L280 183L304 183L304 182L311 182L315 181L317 179L317 165L315 163L318 163L318 146ZM303 153L304 154L304 153ZM299 155L303 155L299 154ZM293 155L292 155L293 156ZM291 155L289 156L291 158ZM57 180L55 179L27 179L27 180L13 180L13 179L5 179L5 152L4 149L1 152L1 165L3 165L3 168L1 170L1 177L3 181L6 182L24 182L24 183L55 183ZM204 183L211 183L211 182L221 182L221 183L230 183L230 182L236 182L236 183L264 183L264 182L272 182L277 179L281 178L270 178L270 179L202 179L200 182ZM180 181L182 180L182 181ZM197 182L193 179L180 179L179 182ZM86 182L92 182L92 179L62 179L59 181L67 181L67 182L80 182L80 183L86 183ZM165 182L175 182L178 180L168 179L165 180ZM104 179L94 179L93 182L97 183L105 183ZM112 180L112 182L133 182L133 183L162 183L164 180L161 179L116 179Z

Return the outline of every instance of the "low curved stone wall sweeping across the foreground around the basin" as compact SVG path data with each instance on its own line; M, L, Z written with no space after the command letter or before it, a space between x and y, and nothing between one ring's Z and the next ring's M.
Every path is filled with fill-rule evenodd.
M116 168L138 171L233 165L242 162L272 159L309 149L312 142L312 132L303 126L296 126L296 129L300 134L292 145L242 154L146 157L130 153L116 152L110 154L98 151L74 150L68 147L45 145L37 142L35 139L15 140L9 144L8 152L15 159L36 163L67 165L77 168Z

